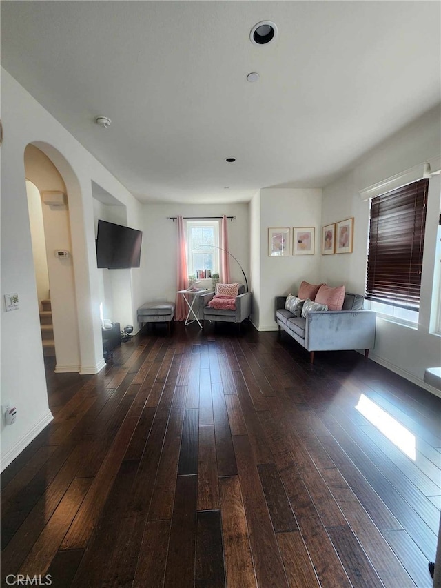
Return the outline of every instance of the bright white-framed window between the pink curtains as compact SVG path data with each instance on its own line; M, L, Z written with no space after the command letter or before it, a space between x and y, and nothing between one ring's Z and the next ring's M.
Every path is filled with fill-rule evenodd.
M219 273L219 221L195 220L187 224L187 264L189 276L211 278Z

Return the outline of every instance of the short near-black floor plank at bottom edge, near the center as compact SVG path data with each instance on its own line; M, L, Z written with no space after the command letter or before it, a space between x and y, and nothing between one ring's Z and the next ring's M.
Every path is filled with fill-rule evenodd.
M225 588L220 512L198 512L196 519L196 588Z

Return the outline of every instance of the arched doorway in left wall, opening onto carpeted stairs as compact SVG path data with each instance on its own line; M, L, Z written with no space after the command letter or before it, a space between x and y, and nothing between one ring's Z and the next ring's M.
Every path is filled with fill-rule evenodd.
M43 352L56 357L56 372L79 372L79 329L67 190L55 165L35 145L26 147L24 160ZM43 247L47 276L42 267Z

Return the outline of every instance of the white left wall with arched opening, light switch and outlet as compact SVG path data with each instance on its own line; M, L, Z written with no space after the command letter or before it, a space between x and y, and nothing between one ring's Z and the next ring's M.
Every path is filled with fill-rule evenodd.
M14 425L6 427L1 419L3 469L52 418L48 409L25 186L26 146L33 143L49 157L59 170L68 193L79 363L83 374L96 373L105 365L92 181L125 205L129 226L141 228L142 207L3 69L1 114L3 121L8 121L1 145L1 297L5 293L19 294L19 310L5 312L4 305L1 310L1 403L11 400L17 406ZM143 296L143 292L132 292L135 308Z

